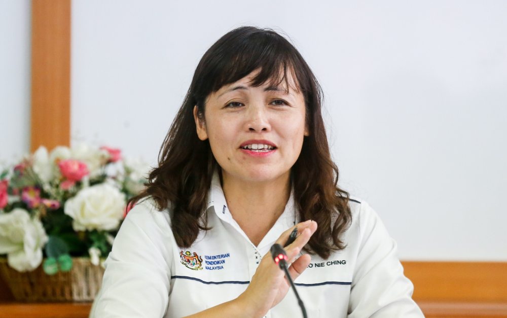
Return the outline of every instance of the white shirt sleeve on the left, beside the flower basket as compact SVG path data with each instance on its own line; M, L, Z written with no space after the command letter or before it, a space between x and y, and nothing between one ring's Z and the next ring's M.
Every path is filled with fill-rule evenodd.
M172 231L165 211L145 202L123 221L105 261L90 317L162 317L170 288Z

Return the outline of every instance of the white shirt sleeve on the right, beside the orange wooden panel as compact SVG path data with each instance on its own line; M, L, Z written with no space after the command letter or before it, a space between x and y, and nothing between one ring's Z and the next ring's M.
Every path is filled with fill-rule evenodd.
M358 214L359 251L349 301L349 317L424 317L412 300L414 286L404 276L396 242L368 205Z

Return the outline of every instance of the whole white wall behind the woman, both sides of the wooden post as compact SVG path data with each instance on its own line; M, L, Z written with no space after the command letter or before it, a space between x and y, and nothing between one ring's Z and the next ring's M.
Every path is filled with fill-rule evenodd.
M0 2L0 138L16 145L0 158L28 149L27 4ZM74 140L155 162L204 51L236 26L274 27L324 89L341 185L378 211L400 256L507 261L507 2L74 0L72 10Z

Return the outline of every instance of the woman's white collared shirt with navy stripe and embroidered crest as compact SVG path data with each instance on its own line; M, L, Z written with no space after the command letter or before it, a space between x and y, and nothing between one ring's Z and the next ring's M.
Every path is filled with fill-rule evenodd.
M350 201L347 247L323 260L312 256L295 280L308 317L423 317L412 300L396 243L373 209ZM238 297L280 234L296 223L291 193L283 214L258 246L232 218L218 176L208 193L208 231L179 248L171 212L150 200L130 210L105 266L91 317L183 317ZM255 220L252 220L255 222ZM292 290L265 317L300 317Z

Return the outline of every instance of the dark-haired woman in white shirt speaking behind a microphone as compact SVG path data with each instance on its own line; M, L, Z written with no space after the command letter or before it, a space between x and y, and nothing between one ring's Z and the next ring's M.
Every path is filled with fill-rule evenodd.
M240 27L204 54L149 185L106 261L92 316L420 317L396 245L337 186L321 90L287 40Z

